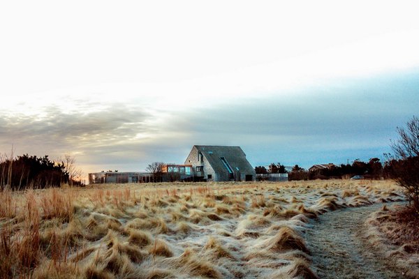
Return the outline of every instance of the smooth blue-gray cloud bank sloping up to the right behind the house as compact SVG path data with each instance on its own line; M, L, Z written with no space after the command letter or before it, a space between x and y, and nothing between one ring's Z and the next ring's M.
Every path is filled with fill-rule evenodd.
M388 152L396 127L417 113L417 73L335 80L295 95L237 98L179 118L194 144L240 145L252 163L367 160Z

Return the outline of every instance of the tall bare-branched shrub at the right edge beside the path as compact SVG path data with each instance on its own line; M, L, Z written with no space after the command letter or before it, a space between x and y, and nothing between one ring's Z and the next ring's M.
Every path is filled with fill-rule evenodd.
M406 128L397 127L399 139L390 146L394 152L386 165L390 174L405 190L409 202L419 211L419 118L413 116Z

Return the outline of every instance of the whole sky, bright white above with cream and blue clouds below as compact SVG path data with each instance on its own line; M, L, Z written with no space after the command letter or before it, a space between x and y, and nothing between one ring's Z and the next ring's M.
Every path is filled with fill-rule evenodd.
M383 158L419 107L416 1L2 1L0 152L84 174Z

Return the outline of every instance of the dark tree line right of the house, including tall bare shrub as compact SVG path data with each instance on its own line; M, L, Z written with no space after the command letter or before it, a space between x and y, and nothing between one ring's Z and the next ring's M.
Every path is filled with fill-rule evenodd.
M342 179L362 175L365 179L393 179L404 188L406 197L419 218L419 118L413 116L406 127L397 127L398 139L390 143L392 154L384 154L385 162L371 158L368 162L357 159L352 165L332 165L307 171L295 165L288 172L288 180ZM256 174L286 173L284 165L270 164L268 169L255 167Z

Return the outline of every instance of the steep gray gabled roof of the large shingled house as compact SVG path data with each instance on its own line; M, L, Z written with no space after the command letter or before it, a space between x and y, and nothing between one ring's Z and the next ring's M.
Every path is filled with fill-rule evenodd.
M195 145L205 158L207 158L215 172L226 172L227 169L221 161L221 157L226 158L228 165L233 172L254 174L255 170L246 159L246 154L240 146L214 146L214 145Z

